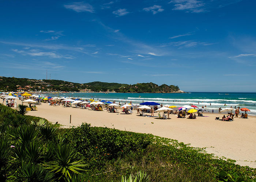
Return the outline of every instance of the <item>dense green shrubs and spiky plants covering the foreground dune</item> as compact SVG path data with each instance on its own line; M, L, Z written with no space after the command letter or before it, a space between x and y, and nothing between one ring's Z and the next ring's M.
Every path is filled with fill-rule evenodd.
M256 169L176 140L87 123L59 128L0 106L3 182L255 182L255 177Z

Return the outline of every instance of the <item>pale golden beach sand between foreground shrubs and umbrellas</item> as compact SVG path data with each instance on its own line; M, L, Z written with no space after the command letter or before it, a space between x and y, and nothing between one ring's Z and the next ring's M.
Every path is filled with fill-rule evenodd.
M234 118L232 122L223 122L215 120L215 117L222 118L223 114L227 115L226 112L204 113L207 117L197 117L197 119L181 119L170 114L171 119L163 120L137 116L136 110L133 114L125 115L121 112L109 113L106 110L93 111L49 106L48 103L37 107L38 111L29 111L27 114L46 118L52 123L58 122L64 125L63 127L79 126L86 122L91 123L91 126L149 133L190 143L193 147L207 147L208 153L234 159L242 166L256 168L256 118L252 116L249 116L249 119ZM70 115L71 124L69 123Z

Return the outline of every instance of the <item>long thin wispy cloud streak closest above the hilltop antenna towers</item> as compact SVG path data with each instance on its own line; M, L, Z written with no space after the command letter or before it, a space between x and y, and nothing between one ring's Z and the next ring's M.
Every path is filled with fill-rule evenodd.
M17 52L22 55L30 55L30 56L47 56L49 58L65 58L65 59L74 59L74 56L71 55L61 55L57 54L56 52L43 52L40 50L29 50L29 51L23 51L18 49L12 49L11 51Z

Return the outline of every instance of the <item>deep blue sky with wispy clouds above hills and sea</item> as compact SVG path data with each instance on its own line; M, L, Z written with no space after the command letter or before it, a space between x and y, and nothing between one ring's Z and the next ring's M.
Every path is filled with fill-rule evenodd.
M0 2L0 76L256 91L256 2Z

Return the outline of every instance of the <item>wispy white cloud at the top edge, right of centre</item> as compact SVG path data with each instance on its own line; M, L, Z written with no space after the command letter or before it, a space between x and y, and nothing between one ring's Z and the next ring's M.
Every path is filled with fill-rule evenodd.
M206 11L203 7L205 3L198 0L172 0L169 3L174 4L173 10L188 10L193 13Z

